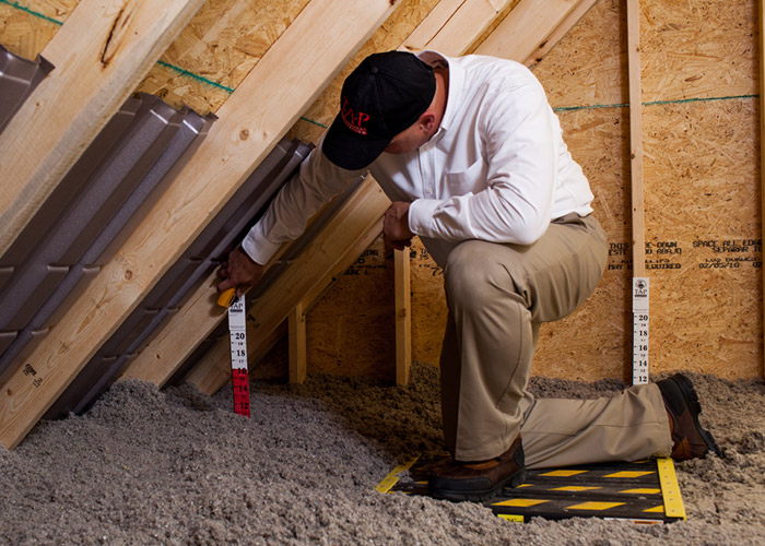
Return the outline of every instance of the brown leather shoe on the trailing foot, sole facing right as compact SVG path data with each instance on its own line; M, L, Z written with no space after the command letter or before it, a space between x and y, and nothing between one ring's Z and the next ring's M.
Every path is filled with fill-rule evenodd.
M702 405L693 382L682 373L658 381L669 414L672 441L672 459L685 461L703 458L709 451L720 454L715 438L698 423Z

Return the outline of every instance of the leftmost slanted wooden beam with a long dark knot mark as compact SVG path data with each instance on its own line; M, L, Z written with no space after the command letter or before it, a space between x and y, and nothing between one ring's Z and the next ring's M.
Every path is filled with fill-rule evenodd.
M0 134L0 256L204 0L82 0L43 51L56 69Z

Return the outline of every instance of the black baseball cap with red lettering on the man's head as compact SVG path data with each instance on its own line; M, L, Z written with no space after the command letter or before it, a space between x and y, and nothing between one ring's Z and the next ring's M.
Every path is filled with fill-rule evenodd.
M433 68L416 56L370 55L343 83L340 114L325 135L325 155L344 169L367 167L427 110L435 94Z

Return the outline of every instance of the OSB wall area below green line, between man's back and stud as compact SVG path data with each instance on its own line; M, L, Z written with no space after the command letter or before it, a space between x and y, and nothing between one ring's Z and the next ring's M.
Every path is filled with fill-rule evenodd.
M533 373L593 381L626 379L632 358L628 121L626 108L560 114L574 157L590 180L595 215L609 240L609 260L595 294L566 319L544 324Z

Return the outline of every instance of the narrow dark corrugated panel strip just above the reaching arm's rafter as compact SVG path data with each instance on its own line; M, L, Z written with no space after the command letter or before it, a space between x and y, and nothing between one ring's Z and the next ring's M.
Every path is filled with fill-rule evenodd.
M276 145L111 339L85 365L83 372L51 406L46 418L63 417L69 412L82 413L90 407L114 382L126 364L153 339L167 317L177 312L195 288L242 240L249 226L309 151L309 146L289 140L282 140Z

